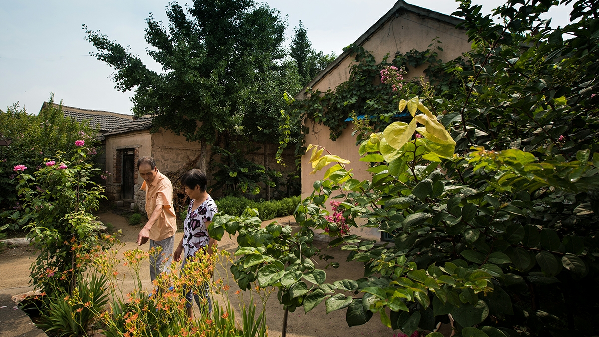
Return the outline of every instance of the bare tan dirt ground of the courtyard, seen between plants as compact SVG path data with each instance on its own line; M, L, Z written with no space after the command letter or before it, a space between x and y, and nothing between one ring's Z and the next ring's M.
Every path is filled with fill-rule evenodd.
M120 256L122 252L128 249L137 248L135 240L137 240L137 234L140 230L139 227L131 226L126 222L123 216L116 215L114 213L101 213L99 218L102 222L110 222L114 226L114 230L122 230L122 235L119 237L121 242L125 244L121 248ZM280 223L287 223L288 220L293 221L291 216L285 218L275 219ZM271 220L272 221L272 220ZM262 225L269 224L271 221L265 221ZM178 228L176 233L175 241L178 243L182 236L182 228ZM323 243L323 245L325 245ZM148 244L142 247L144 250L148 249ZM220 249L226 249L229 252L234 252L237 248L237 241L235 237L229 237L228 234L223 236L223 239L219 242ZM334 282L338 279L357 279L364 275L364 267L361 263L348 263L346 262L347 252L340 250L329 251L329 255L333 255L336 261L341 263L341 267L338 269L326 269L327 281L329 283ZM30 247L20 248L8 248L2 254L0 254L0 294L14 295L24 293L31 290L29 286L29 266L32 261L35 260L35 251ZM319 266L319 261L314 261L316 267ZM322 267L320 267L322 268ZM120 266L119 271L128 273L128 267ZM228 266L225 269L218 270L217 273L224 275L229 273ZM147 289L151 289L150 276L149 276L149 263L144 262L141 267L141 278L142 284ZM123 281L124 293L131 291L134 288L133 279L130 276L125 276ZM229 300L231 305L235 308L235 317L240 318L239 304L240 296L235 294L236 290L239 290L237 284L233 281L230 276L229 281ZM242 291L241 294L247 293ZM249 294L246 294L244 298L247 298ZM197 311L197 307L195 307ZM298 308L295 312L289 312L288 314L288 325L287 325L287 336L289 337L347 337L347 336L393 336L393 332L388 327L383 326L380 322L379 314L375 314L367 324L362 326L348 327L345 321L346 309L340 311L334 311L330 314L326 314L325 303L322 302L312 311L305 314L303 308ZM268 335L280 336L282 320L283 320L283 306L279 304L277 300L276 291L271 294L267 302L266 308L267 324L268 324ZM2 330L5 327L1 327ZM14 335L17 336L17 335ZM21 333L20 336L23 336Z

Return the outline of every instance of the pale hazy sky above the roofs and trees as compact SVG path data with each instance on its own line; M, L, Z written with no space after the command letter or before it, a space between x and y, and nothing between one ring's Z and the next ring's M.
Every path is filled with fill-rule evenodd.
M146 55L145 19L149 13L167 22L168 0L0 0L0 109L19 102L29 113L55 93L55 100L81 109L131 113L132 92L114 89L113 70L89 55L84 41L87 25L122 46L130 46L153 70L160 68ZM189 1L180 1L184 4ZM261 2L261 1L258 1ZM407 0L429 10L451 14L450 0ZM474 1L486 12L500 0ZM314 49L340 55L394 5L385 0L268 0L288 22L287 41L302 20ZM567 24L569 11L555 10L552 26Z

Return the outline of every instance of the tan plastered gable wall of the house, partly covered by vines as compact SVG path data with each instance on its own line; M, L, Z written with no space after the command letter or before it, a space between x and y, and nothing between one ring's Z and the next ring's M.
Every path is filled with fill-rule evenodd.
M421 17L411 12L404 12L399 17L392 17L369 40L365 41L362 46L364 46L365 50L373 53L376 62L380 63L387 54L392 58L395 52L398 51L405 53L413 49L419 51L426 50L436 37L442 42L440 46L444 51L439 53L439 57L443 61L458 58L463 52L470 50L470 43L468 43L468 38L464 31L458 31L453 25L449 25L448 23ZM349 70L354 62L355 59L352 56L347 57L340 62L337 68L329 71L313 88L319 89L322 92L326 92L329 89L334 90L338 85L349 79ZM425 67L410 69L408 76L410 78L422 76L424 69ZM330 130L328 127L315 124L312 121L308 121L307 123L310 131L305 136L306 145L317 144L324 146L331 154L351 161L351 164L347 164L347 169L353 169L355 179L371 179L370 173L366 171L368 164L359 161L361 156L358 154L358 147L355 146L356 140L352 136L352 123L347 124L347 128L335 142L329 137ZM302 157L302 198L312 193L314 182L322 179L326 172L325 169L316 174L310 174L313 170L311 164L308 163L310 155L311 152ZM352 234L363 235L371 239L380 239L380 233L376 228L361 228L359 230L353 228Z

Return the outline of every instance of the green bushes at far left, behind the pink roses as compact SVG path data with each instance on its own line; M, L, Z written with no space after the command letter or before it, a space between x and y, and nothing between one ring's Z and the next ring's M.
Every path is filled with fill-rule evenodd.
M62 106L55 107L53 103L52 95L49 104L38 115L29 115L18 104L8 107L6 112L0 110L0 133L13 140L10 146L0 146L0 186L4 191L0 194L0 214L22 208L16 189L19 180L14 179L18 176L15 166L25 165L28 167L26 172L31 174L43 166L44 158L52 157L58 151L74 151L77 148L75 140L84 140L90 152L86 160L92 162L96 130L87 122L65 118ZM7 215L8 212L0 217ZM22 225L7 220L6 224L12 230L18 230Z

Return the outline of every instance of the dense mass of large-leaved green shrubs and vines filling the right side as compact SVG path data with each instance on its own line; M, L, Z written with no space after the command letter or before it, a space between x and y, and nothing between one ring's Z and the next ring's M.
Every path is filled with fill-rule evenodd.
M380 67L355 50L362 62L348 82L294 104L329 126L332 139L353 110L377 116L358 130L372 179L353 179L341 158L316 147L310 163L326 173L296 210L301 234L262 230L250 213L214 219L217 237L240 233L238 282L278 287L290 309L322 302L328 312L346 309L350 326L379 312L386 326L411 333L451 314L461 335L594 335L599 19L594 2L571 3L572 23L552 29L538 18L554 2L509 1L494 21L463 1L458 14L473 52L448 64L427 61L447 72L434 84L449 91L406 83L392 96L371 84ZM388 104L368 113L379 97ZM412 122L393 122L406 108ZM341 223L393 240L343 235ZM304 250L314 230L337 236L330 246L364 263L364 278L317 279L305 257L328 256Z

